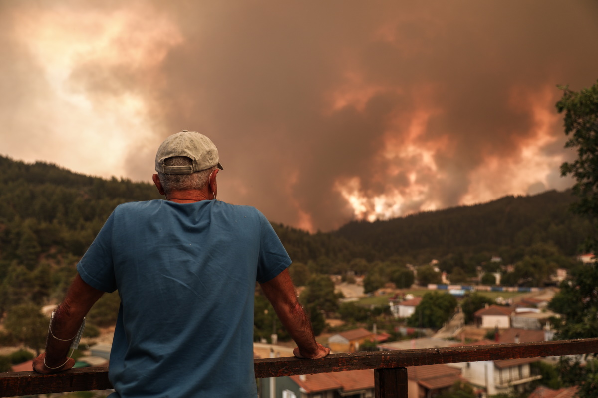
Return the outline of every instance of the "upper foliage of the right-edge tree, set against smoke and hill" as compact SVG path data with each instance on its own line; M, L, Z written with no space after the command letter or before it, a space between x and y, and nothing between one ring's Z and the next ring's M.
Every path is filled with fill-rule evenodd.
M588 234L587 245L598 252L598 81L579 91L565 87L556 107L559 113L565 113L565 147L577 151L574 161L561 165L561 175L575 179L573 194L578 202L573 211L590 218L593 233Z

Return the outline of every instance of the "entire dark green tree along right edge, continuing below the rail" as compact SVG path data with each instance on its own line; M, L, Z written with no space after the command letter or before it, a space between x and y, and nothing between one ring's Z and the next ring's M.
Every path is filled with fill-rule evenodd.
M575 179L573 194L578 202L572 206L576 214L587 218L591 232L587 234L586 248L598 253L598 82L589 88L572 91L564 88L563 97L556 104L559 113L565 113L565 134L567 148L575 148L577 158L561 165L562 175ZM596 263L576 267L571 280L561 284L553 297L550 308L564 316L564 322L557 325L557 338L596 337L598 330L598 266ZM593 354L585 356L587 364L562 357L560 372L566 382L580 385L578 396L596 396L598 389L598 361Z

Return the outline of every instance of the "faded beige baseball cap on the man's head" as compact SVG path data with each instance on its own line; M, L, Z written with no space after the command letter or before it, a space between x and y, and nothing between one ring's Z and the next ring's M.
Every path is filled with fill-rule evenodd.
M187 156L193 161L190 166L166 166L164 161L173 156ZM191 174L218 166L224 170L218 157L218 149L208 137L197 131L183 130L170 135L155 154L155 171L164 174Z

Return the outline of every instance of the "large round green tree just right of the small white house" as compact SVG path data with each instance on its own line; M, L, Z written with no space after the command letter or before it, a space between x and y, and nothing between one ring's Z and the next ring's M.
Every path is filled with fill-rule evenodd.
M422 302L407 319L407 325L419 328L442 328L451 319L457 300L449 293L431 291L423 295Z

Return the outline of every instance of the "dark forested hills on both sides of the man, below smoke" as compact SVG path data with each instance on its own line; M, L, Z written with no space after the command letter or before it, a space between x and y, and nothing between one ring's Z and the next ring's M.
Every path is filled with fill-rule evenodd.
M60 300L75 264L112 209L160 198L149 183L89 177L43 162L0 156L0 167L0 313L23 301ZM349 270L385 275L393 267L432 258L441 260L441 269L451 272L458 266L473 274L493 255L504 263L521 261L533 254L532 246L553 263L563 263L559 258L575 254L589 229L568 211L572 201L569 192L553 191L390 221L353 222L334 233L273 227L294 260L292 272L300 284L316 274Z

